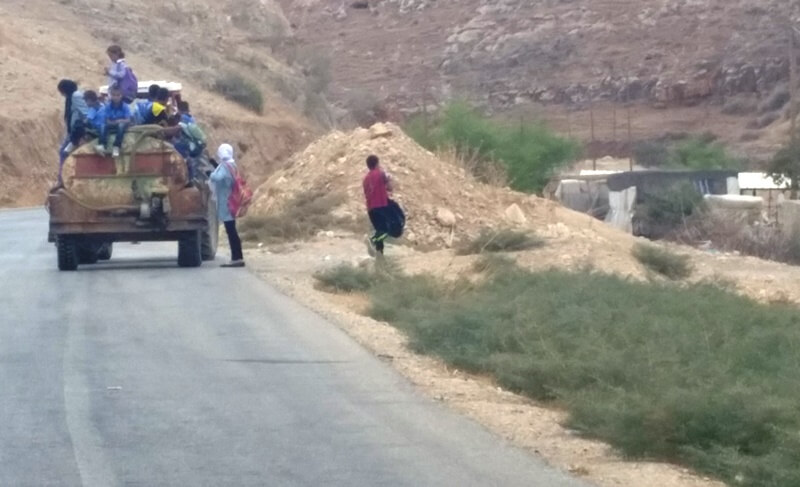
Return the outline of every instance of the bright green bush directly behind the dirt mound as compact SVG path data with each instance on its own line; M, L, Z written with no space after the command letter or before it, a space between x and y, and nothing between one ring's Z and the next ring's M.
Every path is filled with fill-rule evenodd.
M437 117L413 118L406 132L429 150L454 147L484 161L502 162L511 187L539 192L561 167L580 153L577 142L540 123L507 124L486 118L463 102L447 105Z

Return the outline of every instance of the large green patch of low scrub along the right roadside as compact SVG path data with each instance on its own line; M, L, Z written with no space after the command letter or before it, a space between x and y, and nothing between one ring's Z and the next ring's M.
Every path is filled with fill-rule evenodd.
M369 314L414 350L567 408L632 458L736 485L800 485L800 312L720 287L509 266L478 283L403 276Z

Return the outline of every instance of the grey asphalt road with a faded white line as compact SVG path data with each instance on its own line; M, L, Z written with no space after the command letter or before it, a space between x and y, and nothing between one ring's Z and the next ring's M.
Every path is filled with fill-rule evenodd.
M429 400L247 271L175 244L56 270L0 212L0 486L586 484Z

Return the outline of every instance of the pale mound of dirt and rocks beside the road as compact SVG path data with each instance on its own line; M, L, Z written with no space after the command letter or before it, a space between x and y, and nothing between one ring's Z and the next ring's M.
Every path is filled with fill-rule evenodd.
M365 212L361 181L370 154L381 157L396 183L395 198L408 217L405 238L423 248L452 246L484 227L529 228L546 237L581 233L589 241L611 232L615 235L609 237L617 241L629 239L553 202L482 184L392 124L333 132L317 140L258 189L252 214L276 215L303 198L336 195L341 197L332 201L342 202L332 209L336 220L360 221Z

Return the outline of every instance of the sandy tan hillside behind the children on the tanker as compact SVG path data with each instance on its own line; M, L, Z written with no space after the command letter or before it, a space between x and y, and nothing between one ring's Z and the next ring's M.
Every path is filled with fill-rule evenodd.
M242 6L251 5L250 10ZM255 182L319 131L302 106L287 101L274 81L303 90L304 76L259 50L262 36L285 34L286 21L269 2L170 2L160 6L132 0L8 0L0 4L0 205L38 205L56 174L63 136L60 78L85 88L104 84L105 48L119 42L140 79L182 82L193 112L206 125L212 144L232 142ZM191 7L191 8L190 8ZM273 5L274 7L274 5ZM183 8L191 15L182 15ZM246 19L231 16L248 13ZM166 13L165 13L166 12ZM177 12L177 13L176 13ZM155 19L155 20L153 20ZM239 58L262 52L250 65ZM237 54L238 53L238 54ZM258 62L256 62L256 59ZM263 77L264 71L273 78ZM217 76L236 72L254 80L265 95L256 115L215 94Z

